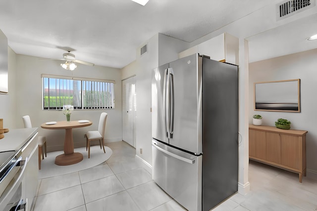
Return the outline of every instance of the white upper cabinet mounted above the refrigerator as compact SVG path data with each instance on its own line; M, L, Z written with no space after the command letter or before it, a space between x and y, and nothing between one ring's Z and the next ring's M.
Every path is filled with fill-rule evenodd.
M223 33L178 53L178 58L194 53L210 56L216 61L239 65L239 39L228 33Z

